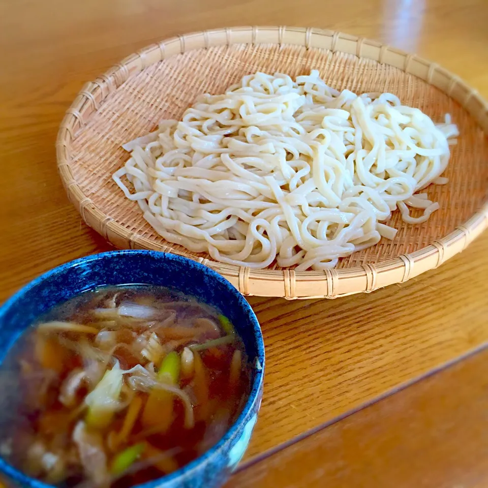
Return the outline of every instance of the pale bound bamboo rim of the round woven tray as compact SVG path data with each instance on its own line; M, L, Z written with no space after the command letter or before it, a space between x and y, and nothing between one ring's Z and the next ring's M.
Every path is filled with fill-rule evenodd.
M83 194L73 176L70 147L76 134L87 123L89 116L99 109L105 98L150 65L190 50L232 44L295 45L376 60L436 86L459 102L477 121L485 135L488 133L488 103L477 90L436 63L378 41L325 29L285 26L226 27L171 37L129 55L95 81L86 83L67 110L59 128L56 141L57 167L68 197L80 211L83 220L106 240L119 247L122 241L131 249L171 252L196 260L221 273L245 295L282 296L287 299L337 298L360 292L369 293L384 286L403 283L424 271L437 268L466 249L488 227L488 201L484 201L481 208L463 225L415 252L351 268L295 272L293 269L251 269L195 257L174 250L171 245L159 245L115 222ZM262 286L256 286L257 284Z

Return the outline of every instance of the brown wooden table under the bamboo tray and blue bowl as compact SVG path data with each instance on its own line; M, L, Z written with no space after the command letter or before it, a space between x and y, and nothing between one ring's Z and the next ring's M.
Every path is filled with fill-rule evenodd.
M376 38L488 96L486 0L3 0L0 301L110 249L82 224L55 166L57 127L84 82L151 42L252 24ZM370 295L250 298L265 392L228 486L487 486L487 245L484 233L438 270Z

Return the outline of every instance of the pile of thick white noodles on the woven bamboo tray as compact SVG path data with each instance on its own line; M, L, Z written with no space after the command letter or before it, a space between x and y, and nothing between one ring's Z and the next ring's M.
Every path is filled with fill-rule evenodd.
M325 269L392 239L381 222L396 208L411 224L439 208L415 193L446 182L457 134L448 114L436 125L389 93L339 93L315 70L256 73L125 144L113 179L169 242L229 264Z

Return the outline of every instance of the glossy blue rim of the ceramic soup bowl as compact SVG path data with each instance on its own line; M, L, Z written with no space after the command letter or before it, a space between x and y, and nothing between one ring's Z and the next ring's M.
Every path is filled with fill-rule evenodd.
M204 266L203 264L197 263L196 261L188 259L184 256L179 256L172 253L162 253L159 251L151 251L145 249L125 249L125 250L113 250L113 251L107 251L98 254L92 254L78 259L74 259L64 264L60 264L59 266L56 266L46 271L39 277L35 278L34 280L24 285L20 290L18 290L9 299L7 299L7 301L5 301L2 304L2 306L0 306L0 326L3 318L5 317L7 312L15 306L17 300L21 298L26 292L42 284L42 282L45 281L47 278L56 275L60 271L64 271L79 266L80 264L86 264L89 262L94 262L94 261L104 260L104 259L117 259L118 257L124 257L127 255L139 255L142 257L152 256L156 259L163 259L163 262L164 260L169 260L170 262L178 261L184 263L185 266L190 266L191 268L199 270L199 272L203 272L204 274L210 276L211 279L216 280L219 283L221 283L223 286L225 286L229 290L229 292L235 296L235 298L237 299L238 307L243 309L243 312L246 315L248 315L253 325L253 336L256 342L256 360L259 361L259 365L261 367L261 369L256 368L254 370L255 376L251 384L251 391L249 393L245 405L242 408L242 411L235 419L235 421L232 423L232 425L227 430L227 432L224 434L224 436L214 446L212 446L210 449L205 451L202 455L198 456L190 463L174 471L173 473L170 473L166 476L162 476L160 478L156 478L150 481L146 481L145 483L134 485L137 486L138 488L154 488L154 486L158 486L158 487L161 486L161 488L163 488L166 484L172 483L174 481L178 481L180 479L183 480L191 476L194 470L198 469L200 466L207 463L212 457L221 455L221 451L225 449L226 444L229 441L232 441L236 437L240 427L244 425L245 420L248 420L247 417L251 412L253 412L257 402L259 402L257 411L259 411L260 408L261 393L262 393L263 380L264 380L264 369L265 369L265 352L264 352L263 335L256 314L254 313L254 310L252 309L248 301L245 299L245 297L228 280L226 280L222 275L219 275L218 272L214 271L208 266ZM5 348L5 352L10 350L12 345L17 341L18 337L19 335L16 335L16 337L12 341L10 341L10 343ZM4 354L2 354L2 357L0 358L0 362L3 361L3 359L4 359ZM24 486L29 486L29 488L55 488L54 485L44 483L43 481L40 481L36 478L32 478L24 474L22 471L14 468L1 455L0 455L0 472L5 473L12 480L22 483Z

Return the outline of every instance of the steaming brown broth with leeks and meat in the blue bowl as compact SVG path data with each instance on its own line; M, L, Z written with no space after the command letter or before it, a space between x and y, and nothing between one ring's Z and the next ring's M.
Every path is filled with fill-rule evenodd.
M168 474L216 444L249 394L229 320L161 287L98 288L36 325L0 368L0 386L15 389L0 454L50 484L124 488Z

